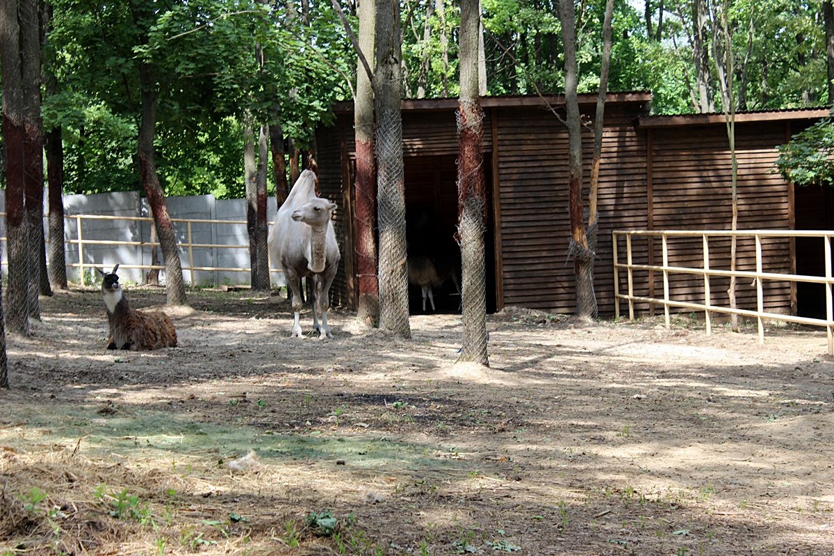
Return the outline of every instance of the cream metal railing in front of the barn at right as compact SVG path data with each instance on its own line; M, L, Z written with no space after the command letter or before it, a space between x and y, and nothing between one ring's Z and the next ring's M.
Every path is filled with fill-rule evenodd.
M721 270L710 268L710 240L713 238L752 238L756 242L756 270ZM777 320L787 323L806 324L811 326L825 327L828 334L828 353L834 355L834 314L831 308L831 285L834 283L834 278L831 277L831 237L834 236L834 231L821 230L740 230L732 232L730 230L615 230L613 232L613 251L614 251L614 312L615 317L620 316L620 300L628 302L629 320L634 320L634 304L635 302L654 303L662 305L664 314L666 316L666 327L669 328L670 314L669 309L688 308L696 311L703 311L705 316L706 333L711 333L711 314L712 313L726 313L736 314L745 317L756 318L758 323L759 343L765 341L765 320ZM633 248L632 238L646 237L646 238L660 238L661 248L663 254L663 264L635 264L633 263ZM625 263L619 262L620 255L620 239L625 238ZM669 238L701 238L702 243L702 258L701 267L682 267L671 266L669 264ZM762 270L762 238L821 238L822 248L824 249L825 257L825 276L810 276L804 274L791 273L766 273ZM634 271L643 270L651 273L662 273L663 276L663 298L643 297L634 294ZM626 273L626 284L628 293L620 293L620 272ZM688 301L680 301L672 298L670 292L669 277L673 273L683 273L698 275L703 278L702 295L704 303L691 303ZM756 310L741 309L733 307L723 307L711 302L710 293L710 278L711 277L736 277L752 279L756 284ZM826 318L807 318L799 317L791 314L769 313L764 309L765 298L764 288L762 286L767 280L786 281L791 283L820 283L825 286L826 293Z

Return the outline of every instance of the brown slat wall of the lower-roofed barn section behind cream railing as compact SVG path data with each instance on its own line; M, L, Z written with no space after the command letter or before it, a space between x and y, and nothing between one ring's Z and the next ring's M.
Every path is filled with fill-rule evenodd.
M654 129L652 162L652 226L663 229L731 229L732 189L731 153L726 127L690 126ZM781 123L737 123L736 158L738 163L738 229L788 229L790 214L788 185L776 173L776 145L784 143ZM669 263L673 266L702 268L701 238L672 238L668 242ZM730 269L729 238L710 242L710 268ZM789 273L790 240L762 240L763 270ZM656 240L654 260L662 261L661 242ZM740 238L736 246L736 268L756 270L756 244L752 238ZM729 278L712 278L711 303L728 306ZM704 303L703 280L691 275L672 275L673 298L678 301ZM790 313L791 286L786 281L763 283L765 310ZM661 273L656 273L656 297L662 297ZM739 308L756 308L756 284L736 280L736 304Z

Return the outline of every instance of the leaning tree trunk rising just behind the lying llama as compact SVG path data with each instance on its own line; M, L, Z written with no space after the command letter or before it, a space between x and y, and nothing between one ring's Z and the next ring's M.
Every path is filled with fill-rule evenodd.
M137 158L139 176L145 195L148 197L153 223L157 229L159 247L165 262L165 294L169 305L185 305L185 284L183 267L179 262L177 236L173 222L168 215L165 195L159 183L156 170L156 156L153 152L153 138L156 134L157 82L152 63L139 64L139 77L142 86L142 124L139 128Z

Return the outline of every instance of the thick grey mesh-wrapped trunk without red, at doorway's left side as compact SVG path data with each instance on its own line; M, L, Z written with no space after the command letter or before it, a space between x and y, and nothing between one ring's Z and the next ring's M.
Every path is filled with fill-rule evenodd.
M399 2L376 1L374 108L378 163L379 328L411 337L405 243L405 184Z

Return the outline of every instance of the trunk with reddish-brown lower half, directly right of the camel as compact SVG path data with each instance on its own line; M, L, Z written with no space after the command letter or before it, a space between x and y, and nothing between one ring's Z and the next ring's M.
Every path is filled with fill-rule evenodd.
M430 4L431 5L431 4ZM430 8L427 8L430 10ZM374 2L359 2L359 49L368 63L374 62ZM373 71L371 67L371 71ZM379 323L379 281L376 250L376 175L374 166L374 90L359 60L356 63L356 178L354 228L359 303L356 318L373 326Z

